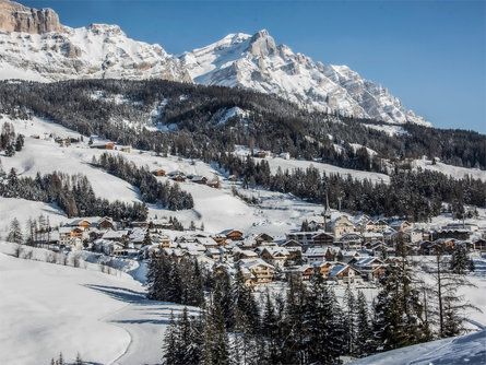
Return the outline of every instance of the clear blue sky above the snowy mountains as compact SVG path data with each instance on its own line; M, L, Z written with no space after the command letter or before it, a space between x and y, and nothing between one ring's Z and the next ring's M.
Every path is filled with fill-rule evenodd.
M266 28L381 83L436 127L486 133L486 1L19 1L72 27L118 24L169 54Z

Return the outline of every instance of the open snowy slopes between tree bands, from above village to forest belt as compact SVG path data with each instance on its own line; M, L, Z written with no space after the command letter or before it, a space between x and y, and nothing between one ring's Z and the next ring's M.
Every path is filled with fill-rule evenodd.
M107 174L103 169L91 165L93 156L99 157L104 150L90 149L87 144L88 138L84 136L84 142L73 143L70 146L60 146L54 141L54 137L72 137L81 136L72 130L61 127L49 120L33 118L29 121L11 119L3 116L0 121L10 121L17 133L26 136L25 145L22 151L12 157L1 157L3 169L8 173L10 168L15 168L20 176L34 177L37 173L47 174L54 170L67 174L81 173L86 175L94 192L100 198L110 201L120 200L125 202L141 202L139 190L127 181ZM39 137L38 139L35 137ZM181 182L182 190L192 193L194 199L194 208L183 211L168 211L161 207L150 205L150 214L152 217L176 216L185 226L189 226L193 221L197 226L202 223L208 232L217 233L226 228L242 229L247 234L268 233L275 238L283 238L285 233L298 229L305 219L312 219L322 212L323 207L303 201L292 195L268 191L263 189L241 189L239 182L227 180L224 172L217 170L212 165L201 161L192 161L189 158L180 158L168 155L167 157L157 156L153 152L142 152L134 150L132 153L123 153L121 151L111 151L114 154L121 154L123 157L133 162L137 166L149 166L151 169L164 168L166 172L180 170L188 175L205 176L211 179L217 176L221 180L221 188L213 189L205 185L193 182ZM237 146L236 154L245 157L249 150L245 146ZM256 158L259 161L260 158ZM294 168L316 167L321 173L339 174L342 176L351 176L357 179L368 179L374 182L388 182L389 176L371 172L359 172L349 168L341 168L329 164L310 161L285 160L280 157L269 157L270 168L273 174L277 168L282 170ZM454 175L451 166L443 164L430 165L439 168L442 173ZM474 172L471 169L463 169ZM479 174L481 173L481 174ZM478 170L479 178L486 180L484 172ZM459 176L459 175L458 175ZM157 177L162 181L167 177ZM256 197L260 203L249 205L232 192L232 188L237 188L247 197ZM16 216L22 226L32 217L39 214L48 214L52 224L67 223L69 219L57 207L45 204L42 202L33 202L26 200L0 198L2 207L0 211L0 220L4 224L0 225L0 231L7 231L10 220ZM481 211L481 215L484 214ZM335 212L335 214L339 214ZM451 221L452 217L438 217L440 222ZM435 222L437 221L435 220Z

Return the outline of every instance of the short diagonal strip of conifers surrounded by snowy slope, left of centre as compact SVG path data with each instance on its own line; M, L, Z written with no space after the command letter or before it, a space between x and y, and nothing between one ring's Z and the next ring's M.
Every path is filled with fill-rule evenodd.
M179 184L159 182L146 167L137 167L121 155L105 152L98 160L93 156L93 164L138 187L145 203L161 204L173 211L194 207L192 195L182 191Z

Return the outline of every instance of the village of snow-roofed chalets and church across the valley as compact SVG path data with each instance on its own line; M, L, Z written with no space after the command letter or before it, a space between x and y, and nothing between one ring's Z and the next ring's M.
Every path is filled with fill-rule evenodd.
M246 237L238 229L212 235L177 232L165 220L122 225L105 216L70 222L59 228L58 237L52 235L51 244L133 259L164 252L176 261L197 259L228 275L239 267L250 286L286 280L288 275L300 275L306 281L316 271L336 284L372 283L388 264L398 262L394 250L399 240L410 255L429 255L437 245L444 251L455 245L486 251L486 231L472 224L425 231L406 221L372 221L366 215L352 220L342 215L332 222L317 217L309 227L316 231L292 232L276 240L265 233Z

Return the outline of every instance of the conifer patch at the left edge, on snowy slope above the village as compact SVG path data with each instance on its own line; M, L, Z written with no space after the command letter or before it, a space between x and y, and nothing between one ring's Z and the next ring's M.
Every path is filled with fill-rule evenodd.
M109 202L97 198L86 176L69 176L63 173L51 173L35 178L19 177L12 168L3 181L0 181L0 196L26 200L55 202L73 216L111 216L114 220L145 221L146 207L142 203L128 204L121 201Z

